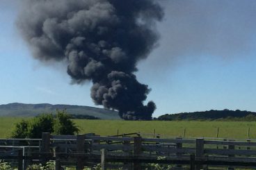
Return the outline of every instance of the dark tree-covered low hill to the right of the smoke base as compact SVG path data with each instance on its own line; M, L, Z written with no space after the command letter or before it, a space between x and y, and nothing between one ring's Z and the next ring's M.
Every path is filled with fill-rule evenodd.
M158 117L158 120L216 120L226 118L242 118L248 115L256 116L256 112L241 110L209 110L205 112L182 112L178 114L164 114Z

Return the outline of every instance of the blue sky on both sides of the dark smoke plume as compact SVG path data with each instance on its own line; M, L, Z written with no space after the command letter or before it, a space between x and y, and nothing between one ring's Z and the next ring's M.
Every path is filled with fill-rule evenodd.
M138 80L152 88L157 117L202 110L256 112L256 2L164 1L161 40L138 63ZM0 6L0 104L95 106L91 83L72 85L65 67L34 60L15 26L15 1Z

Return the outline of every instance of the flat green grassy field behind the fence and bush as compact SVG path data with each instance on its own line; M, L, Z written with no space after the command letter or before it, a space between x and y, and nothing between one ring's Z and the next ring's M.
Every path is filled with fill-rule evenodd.
M1 117L0 137L9 137L16 122L21 118ZM109 121L109 120L74 120L81 128L81 133L96 133L98 135L117 135L122 133L152 134L155 129L161 137L218 137L246 139L248 128L250 138L256 138L256 122L247 121ZM149 135L145 135L149 136Z

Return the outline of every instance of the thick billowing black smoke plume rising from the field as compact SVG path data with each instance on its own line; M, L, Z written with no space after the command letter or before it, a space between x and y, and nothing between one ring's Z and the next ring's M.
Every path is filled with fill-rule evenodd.
M163 10L154 0L25 0L18 26L33 56L67 62L73 83L92 80L96 105L124 119L151 119L150 89L134 71L157 45Z

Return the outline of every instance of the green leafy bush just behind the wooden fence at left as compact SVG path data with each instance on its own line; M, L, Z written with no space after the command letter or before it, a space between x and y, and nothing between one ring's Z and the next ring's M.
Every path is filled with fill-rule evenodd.
M74 135L79 133L79 128L70 119L70 114L65 110L57 110L56 118L53 114L40 114L30 120L22 120L15 124L13 138L39 139L42 133L54 133L56 135Z

